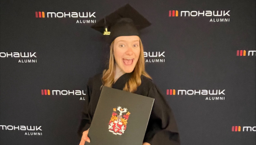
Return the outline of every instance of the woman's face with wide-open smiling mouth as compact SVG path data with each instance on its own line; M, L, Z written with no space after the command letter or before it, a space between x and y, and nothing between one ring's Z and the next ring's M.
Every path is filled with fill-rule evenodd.
M119 36L114 40L116 68L123 72L132 72L140 56L139 36Z

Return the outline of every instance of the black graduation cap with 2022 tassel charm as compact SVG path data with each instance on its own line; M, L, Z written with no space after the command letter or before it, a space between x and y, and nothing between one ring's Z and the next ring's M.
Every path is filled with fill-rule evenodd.
M119 36L139 36L139 30L150 25L151 23L146 18L126 4L96 22L91 28L108 36L107 41L111 43Z

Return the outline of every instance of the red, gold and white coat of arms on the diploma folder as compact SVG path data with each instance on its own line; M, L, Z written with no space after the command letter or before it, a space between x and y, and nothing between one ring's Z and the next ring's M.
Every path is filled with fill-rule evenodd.
M119 111L119 112L117 112ZM108 130L115 135L122 135L127 126L127 120L130 112L127 112L127 108L122 109L120 106L113 109L112 117L108 123ZM123 113L126 113L123 115Z

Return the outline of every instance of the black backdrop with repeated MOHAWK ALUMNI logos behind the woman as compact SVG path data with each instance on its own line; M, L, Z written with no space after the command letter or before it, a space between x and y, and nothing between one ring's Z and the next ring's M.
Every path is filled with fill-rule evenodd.
M108 53L90 26L127 3L152 23L146 70L181 144L255 145L255 0L0 0L0 145L79 144L85 86Z

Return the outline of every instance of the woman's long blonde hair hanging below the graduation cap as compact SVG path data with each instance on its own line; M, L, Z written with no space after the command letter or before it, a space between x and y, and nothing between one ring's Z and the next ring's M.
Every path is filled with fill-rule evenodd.
M110 57L109 57L108 69L103 71L102 87L106 86L106 87L112 88L112 85L114 83L114 72L115 72L115 58L114 58L114 41L113 41L110 45ZM126 85L123 88L123 90L129 91L129 92L135 92L137 90L137 87L141 85L141 75L144 75L152 79L149 76L149 74L145 71L144 51L143 51L143 45L140 39L140 56L133 70L133 73L129 78L128 82L126 82Z

